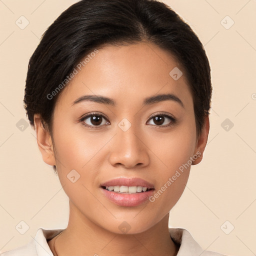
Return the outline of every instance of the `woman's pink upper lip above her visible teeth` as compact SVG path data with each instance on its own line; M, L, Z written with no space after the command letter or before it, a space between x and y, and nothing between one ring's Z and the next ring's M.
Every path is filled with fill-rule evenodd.
M146 186L147 188L154 188L154 185L147 182L146 180L142 178L114 178L111 180L108 180L104 183L101 183L100 186L116 186L116 185L123 185L123 186Z

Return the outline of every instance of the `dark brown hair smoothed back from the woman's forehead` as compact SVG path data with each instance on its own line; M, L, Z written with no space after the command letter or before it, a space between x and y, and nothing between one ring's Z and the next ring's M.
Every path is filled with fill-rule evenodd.
M138 42L168 51L182 68L193 98L198 137L211 104L209 62L191 27L157 0L80 0L63 11L43 33L28 63L24 107L30 125L39 113L51 133L54 106L63 90L50 99L47 95L86 54L105 44Z

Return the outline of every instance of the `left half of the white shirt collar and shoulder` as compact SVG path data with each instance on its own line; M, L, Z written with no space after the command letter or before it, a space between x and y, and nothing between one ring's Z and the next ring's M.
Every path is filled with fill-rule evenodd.
M35 237L23 246L0 253L0 256L53 256L47 240L50 240L63 229L37 229Z

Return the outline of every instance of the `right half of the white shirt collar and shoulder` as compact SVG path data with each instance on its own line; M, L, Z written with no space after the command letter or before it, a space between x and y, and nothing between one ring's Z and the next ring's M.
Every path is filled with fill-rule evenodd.
M183 228L169 228L171 239L179 245L177 256L227 256L214 251L203 250L192 235Z

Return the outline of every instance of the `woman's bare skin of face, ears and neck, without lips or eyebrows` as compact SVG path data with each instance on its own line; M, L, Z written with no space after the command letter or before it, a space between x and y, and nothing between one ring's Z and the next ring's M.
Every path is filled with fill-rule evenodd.
M192 95L184 72L178 80L169 75L174 67L182 70L167 51L149 43L105 45L59 95L53 112L53 138L43 128L39 114L34 115L42 158L56 165L69 197L67 228L55 237L58 256L177 254L178 246L168 232L168 217L185 188L190 166L154 202L119 206L99 189L100 183L116 177L140 177L154 184L157 191L198 151L201 157L192 164L201 161L209 119L205 116L197 138ZM174 100L142 105L145 97L161 93L173 93L184 107ZM72 106L87 94L110 97L116 106L92 101ZM107 117L99 122L99 128L79 121L92 112ZM166 126L171 123L167 117L160 125L149 118L163 112L177 121ZM127 131L118 127L123 118L131 123ZM83 123L92 125L91 120L88 117ZM74 183L66 177L72 169L80 174ZM123 221L130 226L127 233L118 228ZM54 255L55 238L48 242Z

